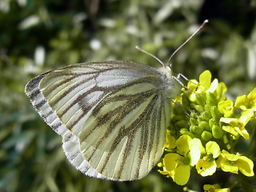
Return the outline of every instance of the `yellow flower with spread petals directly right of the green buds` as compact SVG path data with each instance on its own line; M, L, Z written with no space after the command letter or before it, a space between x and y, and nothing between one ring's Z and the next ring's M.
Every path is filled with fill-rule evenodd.
M240 118L221 118L220 122L229 124L228 126L222 126L222 130L229 132L234 138L237 138L238 134L240 134L243 138L249 139L250 137L245 126L253 116L253 111L244 111Z

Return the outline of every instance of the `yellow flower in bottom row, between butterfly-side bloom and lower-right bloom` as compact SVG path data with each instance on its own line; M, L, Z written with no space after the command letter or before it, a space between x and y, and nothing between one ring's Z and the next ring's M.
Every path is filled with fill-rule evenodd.
M201 174L203 177L214 174L217 168L215 158L218 158L220 153L221 150L217 142L207 142L206 154L202 154L202 158L196 164L198 174Z

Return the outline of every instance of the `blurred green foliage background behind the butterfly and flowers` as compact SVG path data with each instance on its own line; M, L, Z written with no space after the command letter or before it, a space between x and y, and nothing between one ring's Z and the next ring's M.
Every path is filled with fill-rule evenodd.
M198 78L210 70L226 83L230 99L248 94L256 86L255 0L0 0L0 191L182 191L157 167L134 182L81 174L66 160L61 137L30 105L24 86L38 74L77 62L160 66L134 46L166 62L206 18L210 23L172 58L174 73ZM253 136L237 149L254 162L255 128L249 125ZM186 186L202 191L205 183L235 183L234 191L256 191L255 180L192 172Z

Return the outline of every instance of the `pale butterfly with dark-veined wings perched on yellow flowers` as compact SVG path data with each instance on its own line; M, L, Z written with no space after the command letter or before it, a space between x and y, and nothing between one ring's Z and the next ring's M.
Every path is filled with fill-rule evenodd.
M163 63L157 70L85 62L38 75L25 92L62 136L73 166L90 177L129 181L145 177L162 156L175 80Z

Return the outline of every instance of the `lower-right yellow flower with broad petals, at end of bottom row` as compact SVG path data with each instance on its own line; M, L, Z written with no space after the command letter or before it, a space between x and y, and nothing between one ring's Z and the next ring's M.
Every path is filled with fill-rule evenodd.
M238 174L238 170L247 177L254 176L254 162L246 156L240 154L230 154L226 150L222 150L216 161L217 167L222 168L225 172Z

